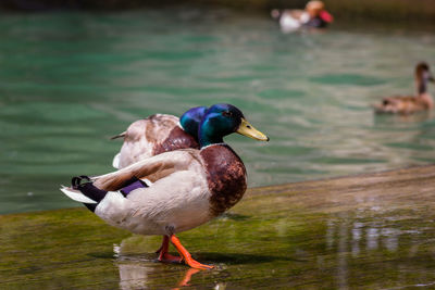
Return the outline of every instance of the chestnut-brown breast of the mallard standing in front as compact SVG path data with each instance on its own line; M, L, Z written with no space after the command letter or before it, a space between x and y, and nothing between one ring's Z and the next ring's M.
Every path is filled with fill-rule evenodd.
M201 150L211 191L210 212L220 215L244 196L246 168L240 157L228 146L211 146Z

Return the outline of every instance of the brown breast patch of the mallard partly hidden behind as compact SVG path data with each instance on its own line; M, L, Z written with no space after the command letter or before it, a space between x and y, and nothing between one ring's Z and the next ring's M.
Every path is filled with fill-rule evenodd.
M154 144L153 153L157 155L163 152L186 148L199 149L199 144L191 135L185 133L178 126L175 126L164 141Z

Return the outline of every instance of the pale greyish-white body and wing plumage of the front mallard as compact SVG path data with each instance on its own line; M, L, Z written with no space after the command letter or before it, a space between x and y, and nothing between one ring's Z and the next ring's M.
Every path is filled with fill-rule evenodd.
M140 235L172 235L195 228L213 217L207 174L198 150L162 153L92 180L99 188L110 188L111 184L128 179L130 175L144 175L153 184L135 189L127 197L119 191L109 191L95 210L108 224ZM77 198L82 194L79 191L62 191L84 202Z

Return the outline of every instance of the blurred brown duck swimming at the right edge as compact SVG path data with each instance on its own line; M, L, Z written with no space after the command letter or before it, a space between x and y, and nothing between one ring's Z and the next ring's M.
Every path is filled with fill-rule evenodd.
M426 62L415 65L415 96L393 96L384 98L381 103L373 105L376 113L411 114L428 111L434 108L434 100L427 92L427 83L435 83Z

